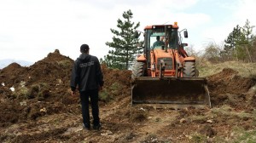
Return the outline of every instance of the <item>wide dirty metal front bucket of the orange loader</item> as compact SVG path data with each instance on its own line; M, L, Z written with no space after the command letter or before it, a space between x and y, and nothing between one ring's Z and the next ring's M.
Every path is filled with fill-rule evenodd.
M137 77L131 85L132 104L155 103L211 107L206 79L203 77Z

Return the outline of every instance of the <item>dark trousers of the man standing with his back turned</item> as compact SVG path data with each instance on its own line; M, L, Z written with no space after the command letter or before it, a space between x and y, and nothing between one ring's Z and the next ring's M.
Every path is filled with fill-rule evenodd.
M85 128L90 128L89 97L90 97L91 111L92 111L92 117L93 117L93 125L97 126L100 123L99 106L98 106L98 99L99 99L98 89L86 90L86 91L80 92L82 116L83 116L83 123Z

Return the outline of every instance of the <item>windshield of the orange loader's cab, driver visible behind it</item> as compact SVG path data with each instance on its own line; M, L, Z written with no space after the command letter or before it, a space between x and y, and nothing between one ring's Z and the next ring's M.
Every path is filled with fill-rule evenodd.
M177 29L156 29L148 31L148 45L150 49L177 49ZM166 40L167 39L167 40Z

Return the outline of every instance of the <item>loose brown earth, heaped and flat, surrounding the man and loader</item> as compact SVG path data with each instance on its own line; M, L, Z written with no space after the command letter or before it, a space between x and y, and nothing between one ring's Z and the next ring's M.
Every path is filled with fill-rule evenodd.
M32 66L0 71L0 142L229 142L239 135L234 128L255 129L255 79L232 69L207 77L211 109L172 110L131 106L131 71L102 66L102 129L82 130L79 96L69 90L72 66L55 50Z

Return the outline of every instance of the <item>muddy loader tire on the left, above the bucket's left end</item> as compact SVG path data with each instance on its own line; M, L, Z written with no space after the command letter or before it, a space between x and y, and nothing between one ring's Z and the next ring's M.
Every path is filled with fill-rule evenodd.
M145 72L144 66L144 62L135 60L134 65L132 66L131 79L135 79L135 77L143 77Z

